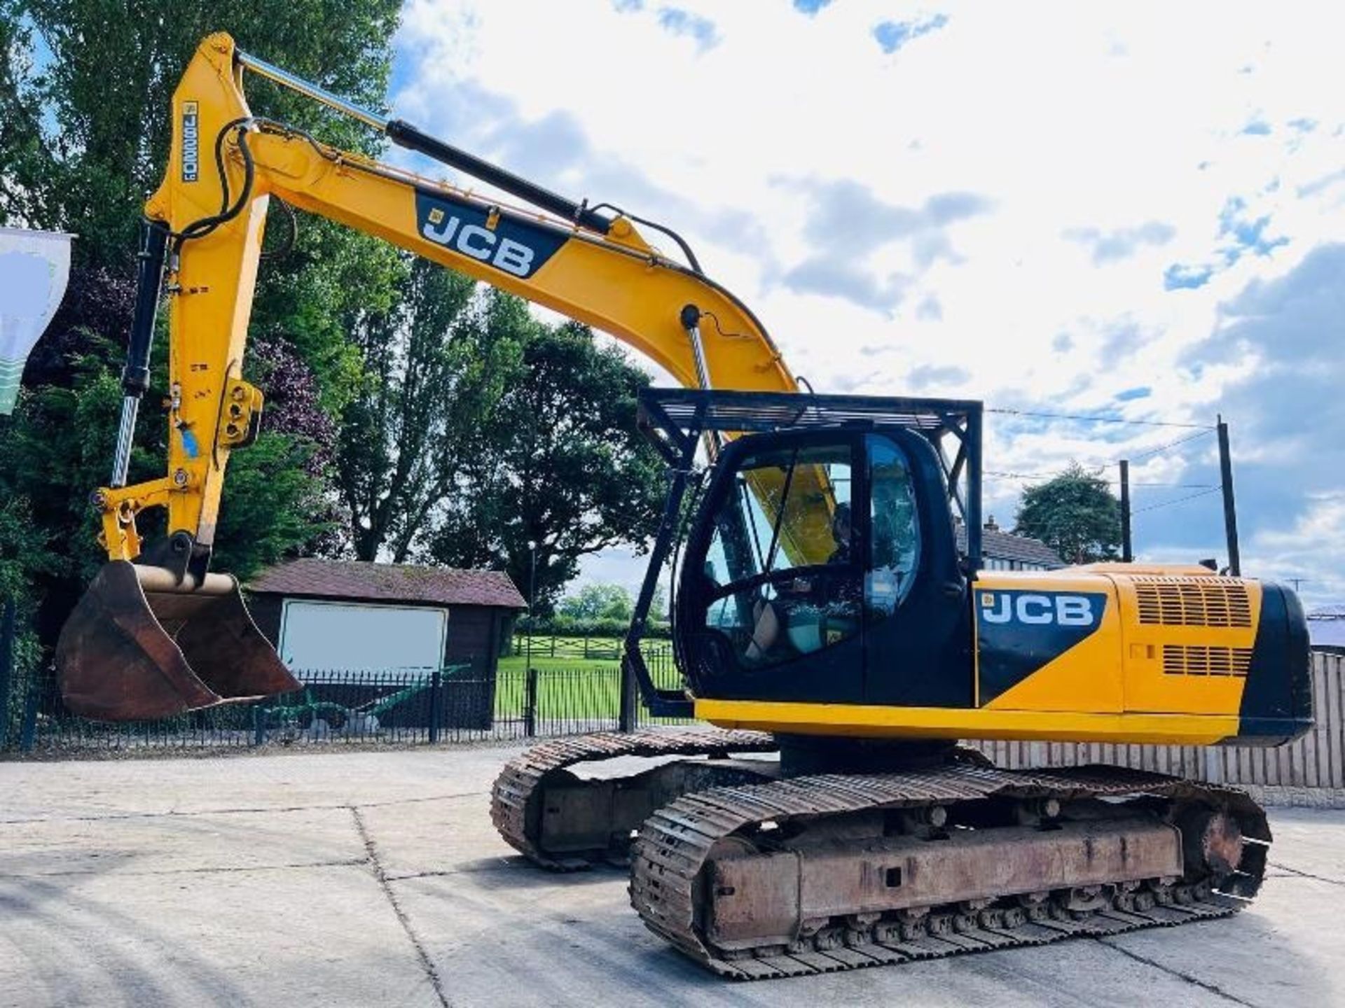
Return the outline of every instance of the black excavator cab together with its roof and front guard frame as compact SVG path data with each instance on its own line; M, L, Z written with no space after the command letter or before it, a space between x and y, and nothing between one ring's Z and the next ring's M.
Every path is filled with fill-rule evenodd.
M952 515L979 512L979 403L648 390L640 407L674 472L679 448L734 434L693 516L667 530L682 540L674 644L697 698L970 702L974 566Z

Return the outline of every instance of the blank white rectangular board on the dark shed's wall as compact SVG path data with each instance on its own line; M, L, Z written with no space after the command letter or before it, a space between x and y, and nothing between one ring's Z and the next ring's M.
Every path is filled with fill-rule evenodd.
M280 656L293 669L438 668L448 610L285 599Z

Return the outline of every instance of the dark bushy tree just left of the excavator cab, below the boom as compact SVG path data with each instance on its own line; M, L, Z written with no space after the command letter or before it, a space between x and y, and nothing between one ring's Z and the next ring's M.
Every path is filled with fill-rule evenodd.
M551 612L581 556L643 547L658 527L663 465L635 427L648 375L577 323L543 325L494 292L490 325L523 336L522 378L464 450L456 491L425 554L456 567L495 567L529 585Z

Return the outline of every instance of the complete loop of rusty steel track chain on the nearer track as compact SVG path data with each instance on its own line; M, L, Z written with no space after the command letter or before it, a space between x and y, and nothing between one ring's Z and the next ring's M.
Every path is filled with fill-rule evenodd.
M702 942L695 930L698 878L717 840L746 827L790 818L874 808L911 808L993 796L1088 797L1154 796L1223 805L1237 816L1248 845L1236 879L1236 896L1213 892L1208 883L1180 884L1134 899L1118 895L1108 909L1087 914L1034 907L983 910L979 914L935 909L923 921L869 927L826 927L788 949L760 948L732 956ZM827 973L964 952L1042 945L1079 934L1107 935L1141 927L1227 917L1255 895L1264 872L1270 831L1264 813L1244 793L1213 785L1120 767L1011 771L948 766L921 773L818 775L685 794L651 816L631 851L631 903L646 926L714 972L740 980Z

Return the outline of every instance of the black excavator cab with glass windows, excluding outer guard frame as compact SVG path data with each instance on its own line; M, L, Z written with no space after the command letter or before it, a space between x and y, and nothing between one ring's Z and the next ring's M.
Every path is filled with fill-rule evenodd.
M729 445L687 538L679 601L698 696L970 698L966 656L944 655L966 578L944 474L919 433L788 430Z

